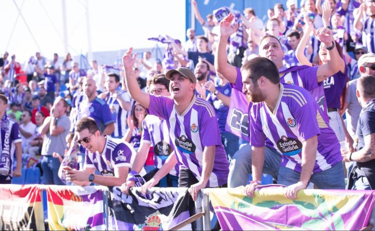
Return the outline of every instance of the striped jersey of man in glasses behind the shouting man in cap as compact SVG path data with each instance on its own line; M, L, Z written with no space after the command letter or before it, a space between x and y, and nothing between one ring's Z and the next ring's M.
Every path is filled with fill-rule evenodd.
M173 152L173 142L169 138L169 129L164 119L160 120L157 116L147 115L142 122L141 143L148 143L153 146L154 165L160 169L168 156ZM169 174L178 176L178 164Z

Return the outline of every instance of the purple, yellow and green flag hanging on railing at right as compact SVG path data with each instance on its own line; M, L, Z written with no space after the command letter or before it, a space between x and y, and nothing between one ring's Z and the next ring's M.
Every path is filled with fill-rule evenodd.
M222 230L360 230L368 225L374 191L305 189L296 200L285 186L263 186L254 198L234 189L205 189Z

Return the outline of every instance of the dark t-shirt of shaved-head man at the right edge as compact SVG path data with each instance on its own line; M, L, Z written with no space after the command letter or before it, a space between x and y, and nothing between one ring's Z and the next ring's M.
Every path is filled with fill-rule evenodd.
M356 132L359 139L357 150L365 146L364 137L373 133L375 133L375 101L363 109L360 114ZM375 159L367 162L357 162L357 166L365 173L371 189L375 189Z

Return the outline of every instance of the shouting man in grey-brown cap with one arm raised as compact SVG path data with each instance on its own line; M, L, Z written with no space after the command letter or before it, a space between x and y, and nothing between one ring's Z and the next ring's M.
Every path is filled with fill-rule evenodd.
M221 142L219 124L210 103L195 97L196 77L186 68L169 70L165 77L171 97L156 97L139 88L133 65L136 54L130 48L123 56L126 86L131 97L149 110L150 115L165 119L175 155L169 155L163 167L142 186L142 192L156 185L178 164L179 187L188 187L195 200L205 187L226 186L229 162ZM193 207L193 206L192 206Z

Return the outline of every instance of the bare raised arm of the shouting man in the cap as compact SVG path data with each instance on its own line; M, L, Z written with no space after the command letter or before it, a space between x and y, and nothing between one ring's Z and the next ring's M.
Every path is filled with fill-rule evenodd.
M150 95L141 91L139 88L136 76L134 75L133 65L136 60L136 54L132 55L133 48L129 48L124 56L122 57L122 62L125 69L125 83L127 91L129 91L130 97L135 101L142 104L145 108L150 107Z

